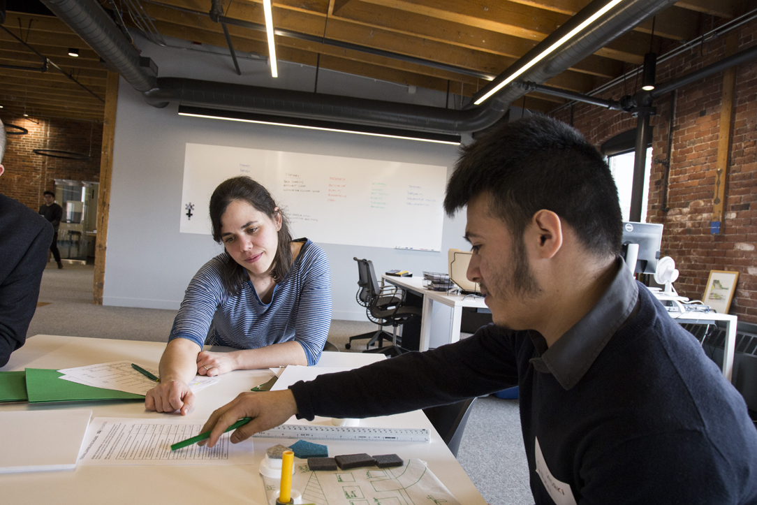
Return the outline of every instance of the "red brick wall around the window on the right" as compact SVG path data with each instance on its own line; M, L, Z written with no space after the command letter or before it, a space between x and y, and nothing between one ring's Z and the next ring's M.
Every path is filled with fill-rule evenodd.
M739 51L750 48L757 42L757 22L734 33ZM725 42L726 36L721 36L705 46L704 55L697 46L658 64L657 82L665 83L720 60ZM627 86L632 94L633 79ZM723 232L712 235L709 223L715 195L722 86L723 73L717 73L678 89L668 189L670 210L661 208L665 166L653 163L647 220L665 225L661 253L672 257L681 272L675 282L679 294L701 300L710 270L737 271L739 280L730 313L757 323L757 61L737 67L726 217ZM602 94L603 98L615 99L622 95L622 83ZM655 126L653 158L665 161L669 95L655 105L657 115L651 120ZM555 117L570 122L570 110L558 111ZM628 113L576 104L573 124L599 147L618 133L634 129L636 119Z

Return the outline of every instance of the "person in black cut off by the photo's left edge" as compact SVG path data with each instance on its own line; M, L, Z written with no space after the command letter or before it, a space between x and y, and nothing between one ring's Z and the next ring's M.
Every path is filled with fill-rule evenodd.
M3 154L0 121L0 161ZM0 176L3 172L0 164ZM52 225L34 210L0 195L0 366L26 341L52 235Z

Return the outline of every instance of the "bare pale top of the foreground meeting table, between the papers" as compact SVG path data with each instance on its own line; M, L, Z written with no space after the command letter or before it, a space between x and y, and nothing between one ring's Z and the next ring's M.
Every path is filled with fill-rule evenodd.
M3 370L30 368L61 369L116 360L133 360L157 366L166 347L163 343L106 340L100 338L36 335L11 355ZM381 355L324 353L320 366L357 366L384 359ZM189 419L204 422L217 407L231 401L242 391L265 382L269 370L238 370L222 376L221 382L198 392ZM70 404L0 405L8 410L92 409L93 417L164 418L169 414L148 412L141 401L97 401ZM326 424L323 418L315 422ZM417 457L428 463L460 503L485 505L485 500L432 428L422 411L366 419L361 426L428 428L430 443L326 441L329 454L399 454L403 459ZM12 436L12 434L3 434ZM31 472L0 475L2 503L265 503L263 479L258 473L266 449L276 444L291 445L294 440L254 438L254 465L238 466L80 466L69 472Z

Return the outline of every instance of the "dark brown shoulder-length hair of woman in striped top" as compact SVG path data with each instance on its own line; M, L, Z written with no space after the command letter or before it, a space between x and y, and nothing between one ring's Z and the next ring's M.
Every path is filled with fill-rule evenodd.
M221 241L221 217L232 201L246 201L255 210L266 214L276 222L276 214L282 218L282 226L279 229L279 242L276 254L273 256L273 280L281 282L291 267L291 233L289 233L289 220L281 209L276 206L271 194L263 185L248 176L232 177L221 182L213 195L210 196L210 223L213 226L213 240L219 244ZM249 276L244 267L237 263L229 254L224 254L223 286L232 295L238 295L241 286L248 281Z

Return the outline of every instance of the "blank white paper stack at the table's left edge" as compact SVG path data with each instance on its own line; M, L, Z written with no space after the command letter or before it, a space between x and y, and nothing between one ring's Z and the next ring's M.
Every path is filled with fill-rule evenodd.
M92 410L0 412L0 473L76 468Z

